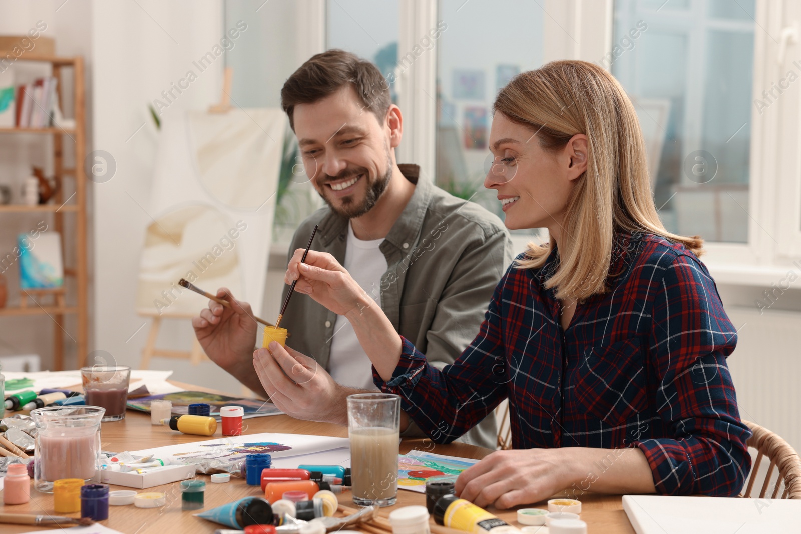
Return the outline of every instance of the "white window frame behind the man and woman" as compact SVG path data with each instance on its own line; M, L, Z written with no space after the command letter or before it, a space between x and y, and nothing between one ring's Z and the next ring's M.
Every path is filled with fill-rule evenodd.
M298 32L299 45L312 54L324 49L325 0L301 1L301 9L318 21L302 25ZM612 49L614 0L544 0L542 6L549 15L543 27L544 62L557 58L598 62ZM436 26L438 8L437 0L401 2L399 54L412 50L415 42ZM783 78L792 61L801 62L799 30L796 26L794 40L788 29L791 21L799 18L801 6L792 2L756 0L753 98ZM320 49L314 50L310 42ZM781 50L784 60L779 64ZM437 54L422 54L415 68L397 79L398 103L407 118L399 160L419 163L421 178L433 181L437 110L431 97L436 94ZM762 114L755 106L751 108L748 240L706 243L703 261L719 283L770 286L801 258L801 154L794 150L801 145L799 114L801 83L792 84ZM525 250L533 237L513 235L515 251Z

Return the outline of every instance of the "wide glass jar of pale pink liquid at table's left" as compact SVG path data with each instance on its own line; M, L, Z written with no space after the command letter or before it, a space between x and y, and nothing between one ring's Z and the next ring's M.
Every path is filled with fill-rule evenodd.
M100 420L96 406L54 406L30 412L36 424L34 488L52 493L61 479L88 482L99 468Z

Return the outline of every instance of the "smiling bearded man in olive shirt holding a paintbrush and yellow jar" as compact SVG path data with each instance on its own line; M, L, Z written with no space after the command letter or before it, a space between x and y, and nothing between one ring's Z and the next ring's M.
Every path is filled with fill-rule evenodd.
M318 224L314 250L331 253L429 362L453 363L473 340L512 260L503 223L418 179L416 165L396 163L403 119L372 63L343 50L316 54L284 83L281 104L306 174L328 204L300 224L290 256L306 247ZM315 371L295 383L280 367L255 365L252 355L270 352L253 351L257 328L249 305L224 289L217 295L231 308L210 302L192 319L203 350L288 415L347 424L347 396L376 391L372 365L348 319L307 295L292 297L281 321L290 333L287 350ZM495 448L496 432L489 416L463 441ZM403 436L421 433L413 427Z

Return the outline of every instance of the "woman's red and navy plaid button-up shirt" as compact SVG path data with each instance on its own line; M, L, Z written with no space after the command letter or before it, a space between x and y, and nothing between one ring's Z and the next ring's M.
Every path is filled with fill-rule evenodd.
M392 379L405 412L437 443L509 398L514 448L638 447L657 491L735 496L751 469L726 358L737 332L706 266L680 244L622 234L610 291L579 303L562 331L538 269L510 267L478 335L437 370L406 339Z

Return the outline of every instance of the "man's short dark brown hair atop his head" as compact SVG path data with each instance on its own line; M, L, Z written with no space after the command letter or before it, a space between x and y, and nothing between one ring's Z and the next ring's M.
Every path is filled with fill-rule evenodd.
M333 48L314 54L281 88L281 107L289 116L289 126L295 130L294 112L298 104L311 104L336 93L350 83L364 108L372 111L378 122L384 122L392 98L389 83L378 67L356 54Z

